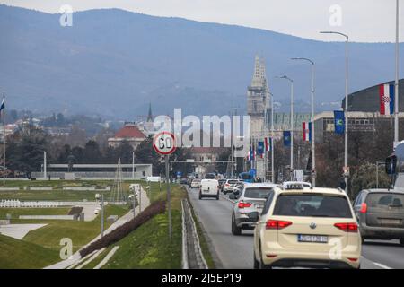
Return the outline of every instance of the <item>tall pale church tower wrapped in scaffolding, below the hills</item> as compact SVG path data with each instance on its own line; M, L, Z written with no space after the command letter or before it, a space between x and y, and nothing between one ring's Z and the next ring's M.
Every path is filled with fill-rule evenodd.
M250 116L252 138L262 138L266 115L270 114L270 94L264 59L255 57L254 74L247 88L247 114Z

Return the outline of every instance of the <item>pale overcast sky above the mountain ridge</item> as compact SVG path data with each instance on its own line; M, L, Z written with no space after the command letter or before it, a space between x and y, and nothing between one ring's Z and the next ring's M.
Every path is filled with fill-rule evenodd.
M74 11L113 7L156 16L275 30L309 39L340 40L337 36L319 34L320 30L339 30L353 41L395 41L396 0L0 0L0 3L47 13L58 13L62 4L70 4ZM340 7L341 18L339 8L334 14L329 12L333 5ZM399 13L402 42L403 0L400 0Z

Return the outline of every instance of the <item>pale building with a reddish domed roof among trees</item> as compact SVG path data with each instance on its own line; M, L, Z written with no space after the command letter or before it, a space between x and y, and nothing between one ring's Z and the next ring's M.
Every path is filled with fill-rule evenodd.
M108 145L111 147L117 147L123 142L127 142L132 145L133 149L145 140L145 134L140 131L140 129L133 122L125 123L114 137L108 139Z

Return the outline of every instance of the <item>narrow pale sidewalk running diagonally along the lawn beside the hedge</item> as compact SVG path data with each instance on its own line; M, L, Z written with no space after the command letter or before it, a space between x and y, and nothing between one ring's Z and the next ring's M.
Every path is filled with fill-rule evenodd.
M139 205L136 206L136 209L135 209L136 216L139 213L143 212L150 205L150 200L147 197L145 189L143 189L143 187L142 187L142 192L141 192L141 198L140 199L138 198L138 201L139 201L139 203L141 203L141 206L139 206ZM140 207L142 207L142 209L140 209ZM110 233L110 231L115 230L117 227L123 225L126 222L131 221L132 219L133 219L133 209L131 209L125 215L121 216L118 221L112 223L112 225L107 230L104 230L104 235ZM101 234L99 234L95 239L92 239L89 243L87 243L87 245L80 248L80 250L83 248L86 248L87 246L92 244L92 242L94 242L100 238L101 238ZM54 265L49 265L49 266L45 267L44 269L65 269L68 266L75 264L77 261L79 261L82 258L80 256L80 250L75 252L75 254L72 255L72 257L70 257L66 260L57 262Z

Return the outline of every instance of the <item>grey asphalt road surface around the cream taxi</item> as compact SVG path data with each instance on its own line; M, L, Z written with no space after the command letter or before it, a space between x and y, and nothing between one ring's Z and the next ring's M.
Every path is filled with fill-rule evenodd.
M233 236L231 213L233 202L221 195L220 200L198 200L197 189L188 189L189 199L199 221L213 244L223 268L252 268L252 230L242 230L242 236ZM404 268L404 248L398 240L366 241L362 246L362 269Z

